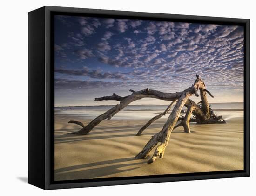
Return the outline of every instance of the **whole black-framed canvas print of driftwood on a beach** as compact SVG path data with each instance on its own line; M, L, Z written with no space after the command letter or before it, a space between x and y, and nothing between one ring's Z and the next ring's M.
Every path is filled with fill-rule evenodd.
M249 176L249 19L45 6L28 25L30 184Z

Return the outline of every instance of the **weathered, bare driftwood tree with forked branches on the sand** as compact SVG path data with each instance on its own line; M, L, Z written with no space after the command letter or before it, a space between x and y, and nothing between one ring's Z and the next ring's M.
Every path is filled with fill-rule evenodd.
M190 100L189 97L194 95L199 96L198 90L200 90L201 101L196 104L194 101ZM145 147L141 150L140 153L136 155L136 158L145 159L148 157L149 153L155 148L155 152L153 156L148 160L148 163L153 163L157 157L163 158L163 154L166 146L168 145L168 141L171 135L171 132L179 127L183 126L184 131L190 133L189 122L193 121L196 123L208 124L208 123L225 123L221 116L217 116L213 113L210 108L207 100L207 93L213 97L213 95L206 89L204 82L196 75L196 80L191 87L176 93L163 93L158 90L152 89L144 89L140 91L134 91L132 89L129 90L132 92L131 95L121 97L116 95L115 93L111 96L104 96L95 98L95 101L103 101L103 100L116 100L120 101L119 104L109 109L107 112L101 114L92 120L88 125L84 126L83 123L79 121L71 120L69 123L75 123L82 127L80 131L73 132L74 134L86 135L90 131L93 130L95 126L97 126L102 120L108 119L110 120L115 114L121 111L123 108L127 107L133 101L140 100L142 98L156 98L160 100L172 101L172 103L167 107L167 109L152 118L148 121L137 133L137 135L141 135L143 130L145 130L151 123L155 120L161 118L163 115L166 115L168 111L171 109L172 105L175 103L175 106L168 117L168 120L164 124L162 130L156 133L145 145ZM182 111L183 106L187 107L187 112L185 116L179 117ZM193 114L193 118L191 119L191 115ZM176 123L180 121L178 125ZM159 144L160 143L160 144ZM158 145L159 144L159 145Z

